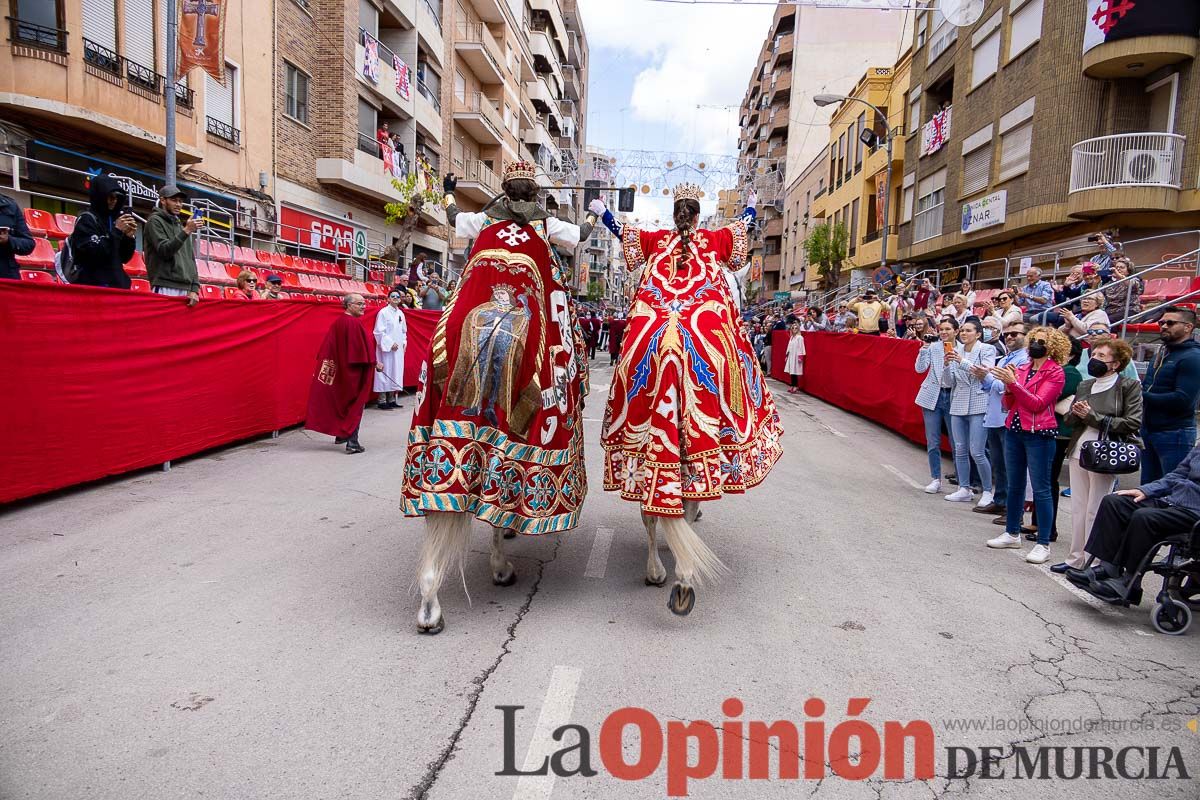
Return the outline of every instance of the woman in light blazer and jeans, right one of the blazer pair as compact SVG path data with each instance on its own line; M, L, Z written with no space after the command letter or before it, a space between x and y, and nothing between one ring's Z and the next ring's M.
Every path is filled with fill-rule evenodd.
M988 429L983 427L988 410L988 392L972 367L990 369L996 366L996 348L982 339L982 325L977 318L967 319L959 327L961 344L943 355L946 369L950 373L950 429L954 432L954 468L959 473L959 488L946 495L949 503L971 503L971 462L979 470L984 487L980 506L990 506L995 495L991 489L991 463L988 461Z

